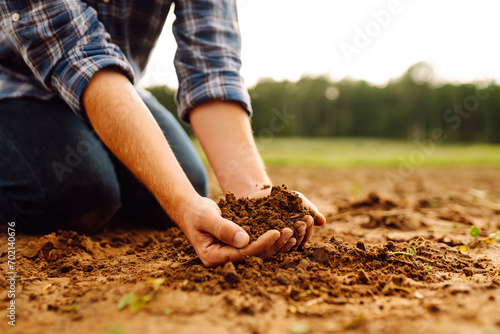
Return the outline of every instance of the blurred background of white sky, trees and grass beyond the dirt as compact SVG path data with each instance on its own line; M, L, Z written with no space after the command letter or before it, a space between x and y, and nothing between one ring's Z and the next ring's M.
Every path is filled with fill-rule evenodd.
M498 1L237 3L268 163L500 165ZM142 80L173 112L174 19Z

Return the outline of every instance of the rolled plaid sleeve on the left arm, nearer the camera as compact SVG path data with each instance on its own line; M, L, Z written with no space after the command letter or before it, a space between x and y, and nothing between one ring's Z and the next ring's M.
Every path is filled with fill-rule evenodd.
M81 1L0 1L0 27L35 77L84 118L81 97L95 72L117 66L134 80L96 11Z

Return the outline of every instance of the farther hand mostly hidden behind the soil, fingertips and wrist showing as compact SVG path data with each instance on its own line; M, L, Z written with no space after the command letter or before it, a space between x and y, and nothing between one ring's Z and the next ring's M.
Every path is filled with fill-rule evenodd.
M295 243L295 247L293 247L293 249L297 249L297 248L305 245L305 243L311 238L311 235L312 235L312 232L313 232L313 226L314 225L316 225L316 226L323 226L323 225L325 225L326 219L325 219L325 216L323 216L319 212L319 210L316 207L316 205L314 205L304 195L302 195L298 191L293 191L293 192L296 193L300 197L300 199L302 199L302 203L304 204L304 206L306 208L311 209L314 212L315 216L316 216L316 218L313 219L313 217L307 215L307 216L304 217L304 221L297 221L295 223L294 227L295 227L295 231L296 231L296 235L297 235L297 240L295 240L296 243ZM259 189L259 190L251 192L248 195L248 197L250 197L250 198L259 198L259 197L268 196L270 193L271 193L271 188ZM295 237L291 238L290 240L293 240L293 239L295 239ZM288 252L289 249L286 249L284 247L281 251L282 252Z

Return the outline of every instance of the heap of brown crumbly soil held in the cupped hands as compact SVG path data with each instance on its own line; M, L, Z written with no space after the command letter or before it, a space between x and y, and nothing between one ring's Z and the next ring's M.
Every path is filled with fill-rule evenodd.
M258 239L269 230L281 231L289 227L295 234L295 226L305 221L314 212L302 203L302 199L287 190L285 185L273 186L269 196L261 198L236 198L228 192L218 203L222 217L240 225L249 235L250 241Z

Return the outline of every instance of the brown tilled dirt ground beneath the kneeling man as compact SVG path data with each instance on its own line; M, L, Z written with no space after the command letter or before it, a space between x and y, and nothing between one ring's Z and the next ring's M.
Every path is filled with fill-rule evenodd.
M3 226L0 332L500 333L500 169L270 174L327 217L304 249L207 269L177 228L18 234L15 327Z

